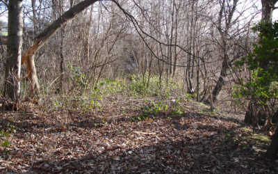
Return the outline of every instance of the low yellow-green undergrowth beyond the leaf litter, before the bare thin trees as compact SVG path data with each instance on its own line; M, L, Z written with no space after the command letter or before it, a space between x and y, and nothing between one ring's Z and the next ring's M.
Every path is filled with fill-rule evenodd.
M80 74L79 74L80 75ZM161 82L157 76L149 81L140 75L127 79L101 79L97 84L90 84L85 76L76 75L71 80L76 84L77 92L60 95L53 100L54 109L68 109L81 114L101 111L104 97L109 95L126 95L127 97L161 97L168 99L173 93L182 93L181 87L173 79ZM85 84L83 83L85 81ZM76 90L74 90L76 91ZM159 105L159 106L158 106ZM149 109L167 110L167 105L149 105ZM179 111L178 111L179 112Z

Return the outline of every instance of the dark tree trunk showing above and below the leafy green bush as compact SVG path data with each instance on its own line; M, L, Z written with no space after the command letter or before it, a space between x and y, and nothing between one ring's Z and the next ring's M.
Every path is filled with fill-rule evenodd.
M262 5L262 13L261 13L261 21L263 23L271 23L272 22L272 12L275 8L275 3L277 3L278 0L261 0ZM267 68L268 63L265 61L261 62L262 68ZM250 104L248 105L247 111L245 113L245 124L246 125L253 125L257 126L260 125L259 121L262 121L261 119L261 113L263 112L263 106L259 104L259 101L252 100ZM262 125L262 123L261 123Z

